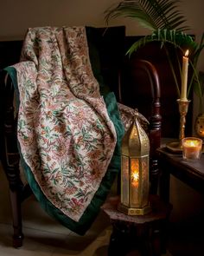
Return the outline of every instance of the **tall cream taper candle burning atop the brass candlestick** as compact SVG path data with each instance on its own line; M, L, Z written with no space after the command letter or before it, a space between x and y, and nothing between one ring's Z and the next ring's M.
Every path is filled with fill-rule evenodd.
M187 101L187 82L188 82L188 50L182 57L182 93L181 101Z

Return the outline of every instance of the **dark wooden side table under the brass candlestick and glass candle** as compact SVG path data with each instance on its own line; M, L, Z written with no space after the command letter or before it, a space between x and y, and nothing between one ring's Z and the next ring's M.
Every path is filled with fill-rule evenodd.
M204 154L196 161L185 161L182 154L172 154L167 148L159 148L158 162L161 171L160 194L163 200L169 201L170 174L185 182L200 193L204 193Z

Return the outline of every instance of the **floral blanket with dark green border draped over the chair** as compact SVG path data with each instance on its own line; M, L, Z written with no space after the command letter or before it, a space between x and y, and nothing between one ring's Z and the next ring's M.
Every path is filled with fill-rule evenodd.
M84 234L120 167L124 133L112 93L92 74L85 27L29 29L6 69L17 95L21 165L35 197Z

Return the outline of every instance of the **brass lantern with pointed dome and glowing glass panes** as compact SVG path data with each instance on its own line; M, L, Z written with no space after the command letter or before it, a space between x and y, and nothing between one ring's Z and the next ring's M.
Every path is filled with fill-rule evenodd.
M149 155L150 141L138 119L134 116L131 127L122 141L121 198L118 210L128 215L150 213Z

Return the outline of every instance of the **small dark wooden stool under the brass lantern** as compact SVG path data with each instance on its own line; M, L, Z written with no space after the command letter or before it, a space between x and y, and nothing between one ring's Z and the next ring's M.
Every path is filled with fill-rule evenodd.
M118 202L118 196L110 197L102 207L112 223L108 255L124 256L136 249L143 256L165 253L172 206L160 200L159 196L150 195L152 211L142 216L129 216L118 211Z

